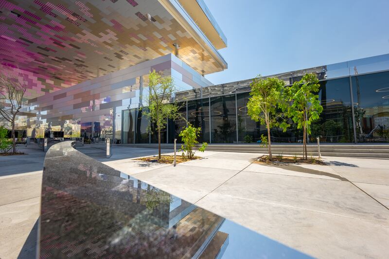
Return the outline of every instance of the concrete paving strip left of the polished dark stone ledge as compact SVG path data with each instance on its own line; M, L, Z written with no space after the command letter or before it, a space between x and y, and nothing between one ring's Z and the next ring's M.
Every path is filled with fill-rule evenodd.
M0 156L0 258L35 258L45 153L19 148L28 155ZM22 251L21 251L22 250Z

